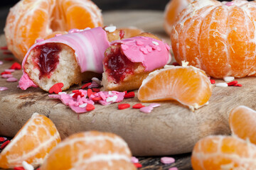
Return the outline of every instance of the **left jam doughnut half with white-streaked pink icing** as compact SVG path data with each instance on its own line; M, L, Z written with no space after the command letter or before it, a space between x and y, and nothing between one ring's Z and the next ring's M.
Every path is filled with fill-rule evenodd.
M39 86L45 91L56 83L62 90L85 79L98 77L103 72L102 59L110 47L107 33L102 28L70 30L48 40L38 40L26 53L19 87Z

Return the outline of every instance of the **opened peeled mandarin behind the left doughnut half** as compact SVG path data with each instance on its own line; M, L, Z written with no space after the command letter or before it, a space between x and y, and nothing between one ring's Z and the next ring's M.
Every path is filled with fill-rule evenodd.
M102 13L90 0L21 0L11 8L4 32L9 50L22 61L37 38L97 26Z

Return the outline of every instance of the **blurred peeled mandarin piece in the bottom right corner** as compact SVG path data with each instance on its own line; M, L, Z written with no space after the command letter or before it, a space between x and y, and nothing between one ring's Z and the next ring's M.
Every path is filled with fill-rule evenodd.
M194 170L256 169L256 146L238 137L208 136L193 147Z

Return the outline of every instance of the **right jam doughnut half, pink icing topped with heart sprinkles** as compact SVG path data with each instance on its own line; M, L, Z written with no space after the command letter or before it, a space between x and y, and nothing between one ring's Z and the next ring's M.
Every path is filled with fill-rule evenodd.
M150 72L161 69L171 60L169 50L169 45L150 33L111 42L103 59L104 89L139 89Z

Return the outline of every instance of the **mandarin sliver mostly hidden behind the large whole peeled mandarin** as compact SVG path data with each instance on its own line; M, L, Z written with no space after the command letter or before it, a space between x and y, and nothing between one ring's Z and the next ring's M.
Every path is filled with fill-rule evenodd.
M193 0L171 0L164 9L164 29L166 33L171 34L171 28L175 19L184 8Z

